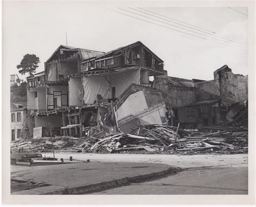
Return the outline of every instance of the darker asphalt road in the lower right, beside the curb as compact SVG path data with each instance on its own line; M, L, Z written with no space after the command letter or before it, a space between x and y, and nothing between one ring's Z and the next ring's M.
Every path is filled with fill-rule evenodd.
M97 195L236 195L248 194L247 167L191 168L163 179L132 183Z

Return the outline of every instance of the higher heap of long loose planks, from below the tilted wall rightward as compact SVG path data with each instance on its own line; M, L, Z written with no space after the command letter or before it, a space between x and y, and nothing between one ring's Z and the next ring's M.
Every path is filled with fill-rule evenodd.
M145 150L150 152L224 152L246 153L248 132L198 132L177 127L145 125L130 134L114 134L100 139L86 152Z

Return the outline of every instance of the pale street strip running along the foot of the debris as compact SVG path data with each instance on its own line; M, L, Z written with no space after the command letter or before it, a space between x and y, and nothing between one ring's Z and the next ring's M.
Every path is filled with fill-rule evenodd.
M42 155L52 156L52 153L42 153ZM73 159L86 161L101 162L153 162L164 163L180 168L194 167L212 167L212 166L229 166L243 164L247 167L248 154L92 154L92 153L55 153L56 158Z

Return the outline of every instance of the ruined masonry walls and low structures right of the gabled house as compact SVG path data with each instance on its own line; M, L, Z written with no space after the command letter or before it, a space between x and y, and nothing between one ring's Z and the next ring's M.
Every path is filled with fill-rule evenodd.
M247 126L248 76L233 74L227 65L213 73L214 80L186 80L158 76L154 87L186 129L197 126Z

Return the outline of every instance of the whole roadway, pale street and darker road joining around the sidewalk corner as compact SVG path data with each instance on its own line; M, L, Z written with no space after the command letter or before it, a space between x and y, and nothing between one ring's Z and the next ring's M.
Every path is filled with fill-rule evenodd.
M46 156L49 154L47 153ZM73 156L79 160L99 162L165 163L183 169L176 175L163 179L132 183L93 194L247 194L247 154L83 154L56 153L57 158Z

